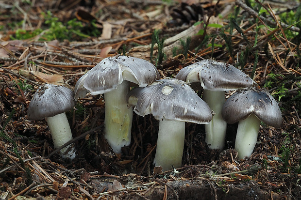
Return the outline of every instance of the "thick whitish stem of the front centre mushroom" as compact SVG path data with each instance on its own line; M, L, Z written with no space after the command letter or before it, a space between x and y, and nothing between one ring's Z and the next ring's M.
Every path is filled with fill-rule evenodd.
M159 123L155 166L163 171L181 167L184 150L185 122L167 121Z

